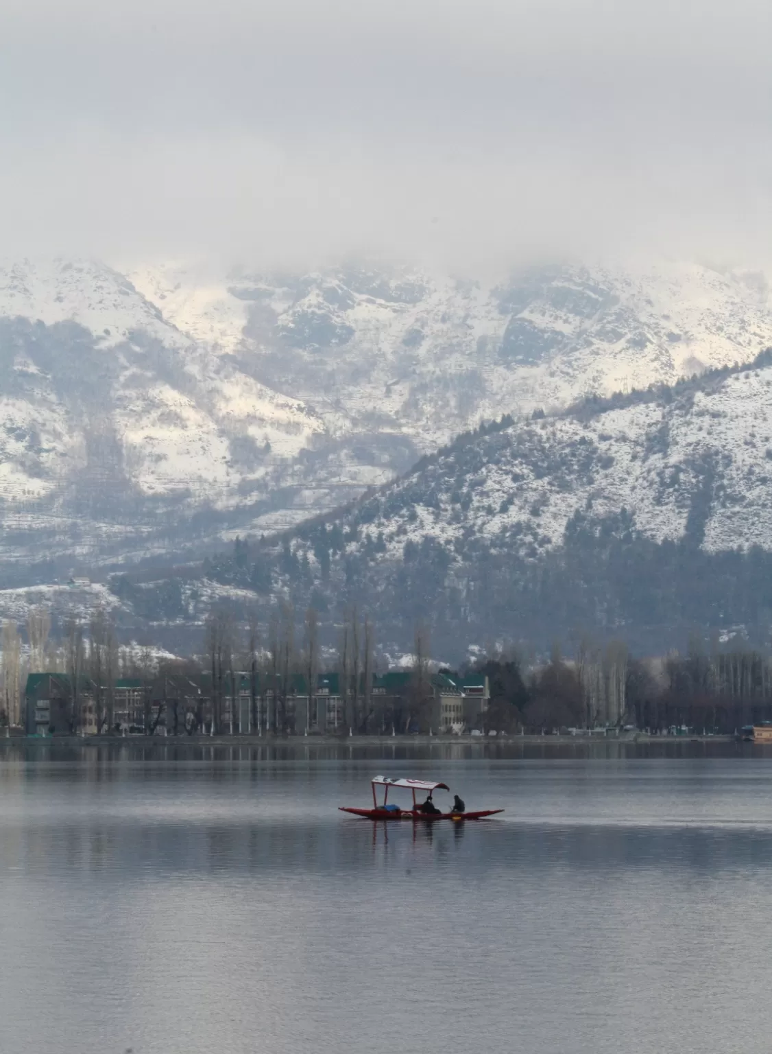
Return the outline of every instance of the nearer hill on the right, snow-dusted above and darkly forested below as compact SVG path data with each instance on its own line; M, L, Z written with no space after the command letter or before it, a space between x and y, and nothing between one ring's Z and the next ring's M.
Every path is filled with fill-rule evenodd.
M333 613L367 606L390 642L422 622L456 652L582 633L657 650L691 630L769 643L771 496L767 352L462 437L210 573Z

